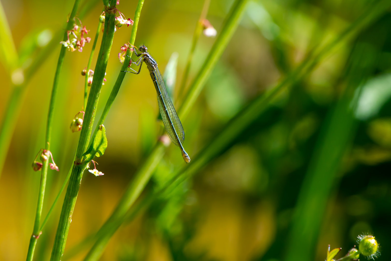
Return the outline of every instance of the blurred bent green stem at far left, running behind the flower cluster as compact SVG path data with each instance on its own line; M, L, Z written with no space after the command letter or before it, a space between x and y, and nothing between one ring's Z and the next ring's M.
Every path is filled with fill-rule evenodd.
M80 12L79 18L82 19L84 15L88 14L92 10L92 6L97 0L90 0L85 4L83 10ZM0 176L4 167L4 162L7 157L9 144L11 143L11 137L13 135L18 115L22 109L24 97L26 95L26 87L29 84L30 79L39 70L41 65L45 63L45 60L50 54L58 47L59 41L63 37L64 30L58 30L50 43L42 49L38 56L33 60L31 65L25 70L25 80L21 85L11 86L11 95L7 101L5 107L5 114L3 116L0 128Z

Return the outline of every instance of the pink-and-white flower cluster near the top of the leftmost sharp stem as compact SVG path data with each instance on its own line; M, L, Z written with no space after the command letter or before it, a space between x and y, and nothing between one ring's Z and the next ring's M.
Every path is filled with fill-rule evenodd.
M79 52L82 52L84 45L91 41L90 37L84 37L84 34L88 34L90 30L87 30L86 27L83 26L79 18L77 18L77 20L79 20L80 25L77 25L75 20L72 30L66 32L68 35L68 40L60 42L68 49L68 51L71 52L74 52L76 49ZM73 38L70 39L69 36L73 36Z

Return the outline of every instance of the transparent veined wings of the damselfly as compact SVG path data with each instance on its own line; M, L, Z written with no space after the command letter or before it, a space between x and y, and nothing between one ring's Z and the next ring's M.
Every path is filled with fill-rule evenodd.
M182 123L179 120L178 114L176 114L170 96L167 94L166 85L157 67L156 70L154 70L154 74L161 92L161 99L159 98L158 95L158 104L159 104L161 119L163 119L164 127L166 128L167 134L169 135L170 139L176 146L179 146L175 133L178 135L178 138L182 143L183 140L185 140L185 132L183 131ZM163 102L167 108L167 114L164 112Z

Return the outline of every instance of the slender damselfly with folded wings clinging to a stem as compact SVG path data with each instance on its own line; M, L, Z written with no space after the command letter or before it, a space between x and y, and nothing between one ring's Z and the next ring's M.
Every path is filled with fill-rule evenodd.
M172 142L181 148L182 157L185 162L190 162L190 157L187 155L185 149L182 146L183 140L185 139L185 132L183 131L183 127L181 121L179 120L178 115L176 114L174 105L170 99L170 96L167 94L166 85L164 83L163 77L160 74L158 69L158 64L152 58L152 56L148 53L148 49L145 45L141 45L137 52L137 49L133 46L133 50L135 51L135 55L137 57L141 56L136 62L131 59L131 62L135 65L140 65L138 71L136 72L132 68L130 68L131 63L129 63L129 68L133 71L133 74L139 74L142 66L142 62L144 62L149 70L149 74L151 75L153 84L155 85L156 94L158 96L158 104L160 109L161 119L163 119L164 127L166 128L167 134L169 135ZM129 71L124 71L129 72Z

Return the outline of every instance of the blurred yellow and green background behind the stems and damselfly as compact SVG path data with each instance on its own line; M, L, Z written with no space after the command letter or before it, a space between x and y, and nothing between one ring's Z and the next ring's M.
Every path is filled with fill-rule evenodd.
M211 0L207 19L217 33L232 2ZM249 1L197 103L182 121L190 157L373 2L377 1ZM63 27L73 1L1 0L1 4L22 54L29 48L29 35L48 29L48 37ZM121 0L117 8L133 19L136 4ZM175 94L202 6L201 0L145 0L140 16L135 44L148 47L162 73L172 54L178 53L176 106ZM95 1L82 20L91 38L102 7ZM391 13L388 7L381 11L284 88L219 157L177 187L168 200L155 201L123 225L100 260L283 261L300 260L295 252L303 251L308 260L320 261L328 244L343 248L339 258L365 232L373 233L382 246L379 260L391 259L387 236L391 233ZM117 53L130 34L131 28L125 26L115 32L98 116L120 70ZM188 83L213 42L214 38L199 38ZM51 144L60 171L49 171L44 216L71 166L79 133L72 133L69 124L83 106L81 70L91 46L65 57ZM44 143L60 47L28 85L0 178L0 260L24 260L27 254L40 178L31 162ZM0 77L0 115L4 115L11 94L4 65ZM84 173L65 256L113 211L162 133L158 113L146 67L138 76L128 74L104 123L108 148L97 161L105 175ZM147 190L160 187L184 164L179 149L171 144ZM35 260L49 259L62 199L63 195L39 238ZM303 235L308 235L309 243L301 241ZM82 260L88 249L68 260Z

